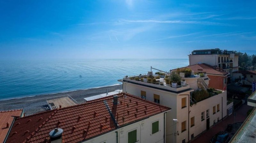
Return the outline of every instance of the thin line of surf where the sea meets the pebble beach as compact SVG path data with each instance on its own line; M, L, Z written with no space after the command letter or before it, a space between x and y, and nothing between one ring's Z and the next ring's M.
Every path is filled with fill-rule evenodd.
M22 99L22 98L27 98L27 97L39 97L39 96L47 96L47 95L52 95L52 94L76 92L76 91L82 91L82 90L88 90L88 89L98 89L98 88L111 87L111 86L117 86L117 85L122 85L122 83L120 83L120 84L113 84L113 85L106 85L106 86L100 86L100 87L87 88L87 89L76 89L76 90L69 90L69 91L56 92L56 93L43 93L43 94L29 95L29 96L24 96L24 97L14 97L14 98L0 99L0 102L8 101L8 100L13 100L13 99Z

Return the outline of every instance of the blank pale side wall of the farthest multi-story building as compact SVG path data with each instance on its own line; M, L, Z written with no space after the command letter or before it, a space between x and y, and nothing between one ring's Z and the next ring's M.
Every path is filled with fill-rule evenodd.
M211 66L218 65L217 55L188 55L189 65L195 65L200 63L206 63Z

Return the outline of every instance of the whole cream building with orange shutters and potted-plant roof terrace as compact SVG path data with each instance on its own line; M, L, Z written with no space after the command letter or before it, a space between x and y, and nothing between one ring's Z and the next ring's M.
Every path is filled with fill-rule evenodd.
M233 102L227 104L226 91L208 87L210 78L207 75L193 73L180 72L180 81L177 81L177 74L166 73L171 77L162 78L151 71L125 76L118 81L123 82L125 93L172 108L166 114L166 142L185 143L230 115L233 106ZM156 82L155 78L161 82ZM170 82L175 78L181 85Z

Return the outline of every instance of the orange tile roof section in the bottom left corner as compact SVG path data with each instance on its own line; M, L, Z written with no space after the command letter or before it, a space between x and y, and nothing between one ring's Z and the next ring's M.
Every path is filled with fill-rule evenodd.
M14 117L12 116L21 116L22 109L20 110L11 110L11 111L0 111L0 143L4 142L4 139L12 125ZM9 127L6 127L6 123L9 123Z

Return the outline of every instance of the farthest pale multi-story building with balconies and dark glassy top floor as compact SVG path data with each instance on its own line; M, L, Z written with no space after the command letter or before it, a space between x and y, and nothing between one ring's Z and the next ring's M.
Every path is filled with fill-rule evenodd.
M238 55L233 51L216 49L194 50L189 57L189 65L206 63L230 73L238 71Z

